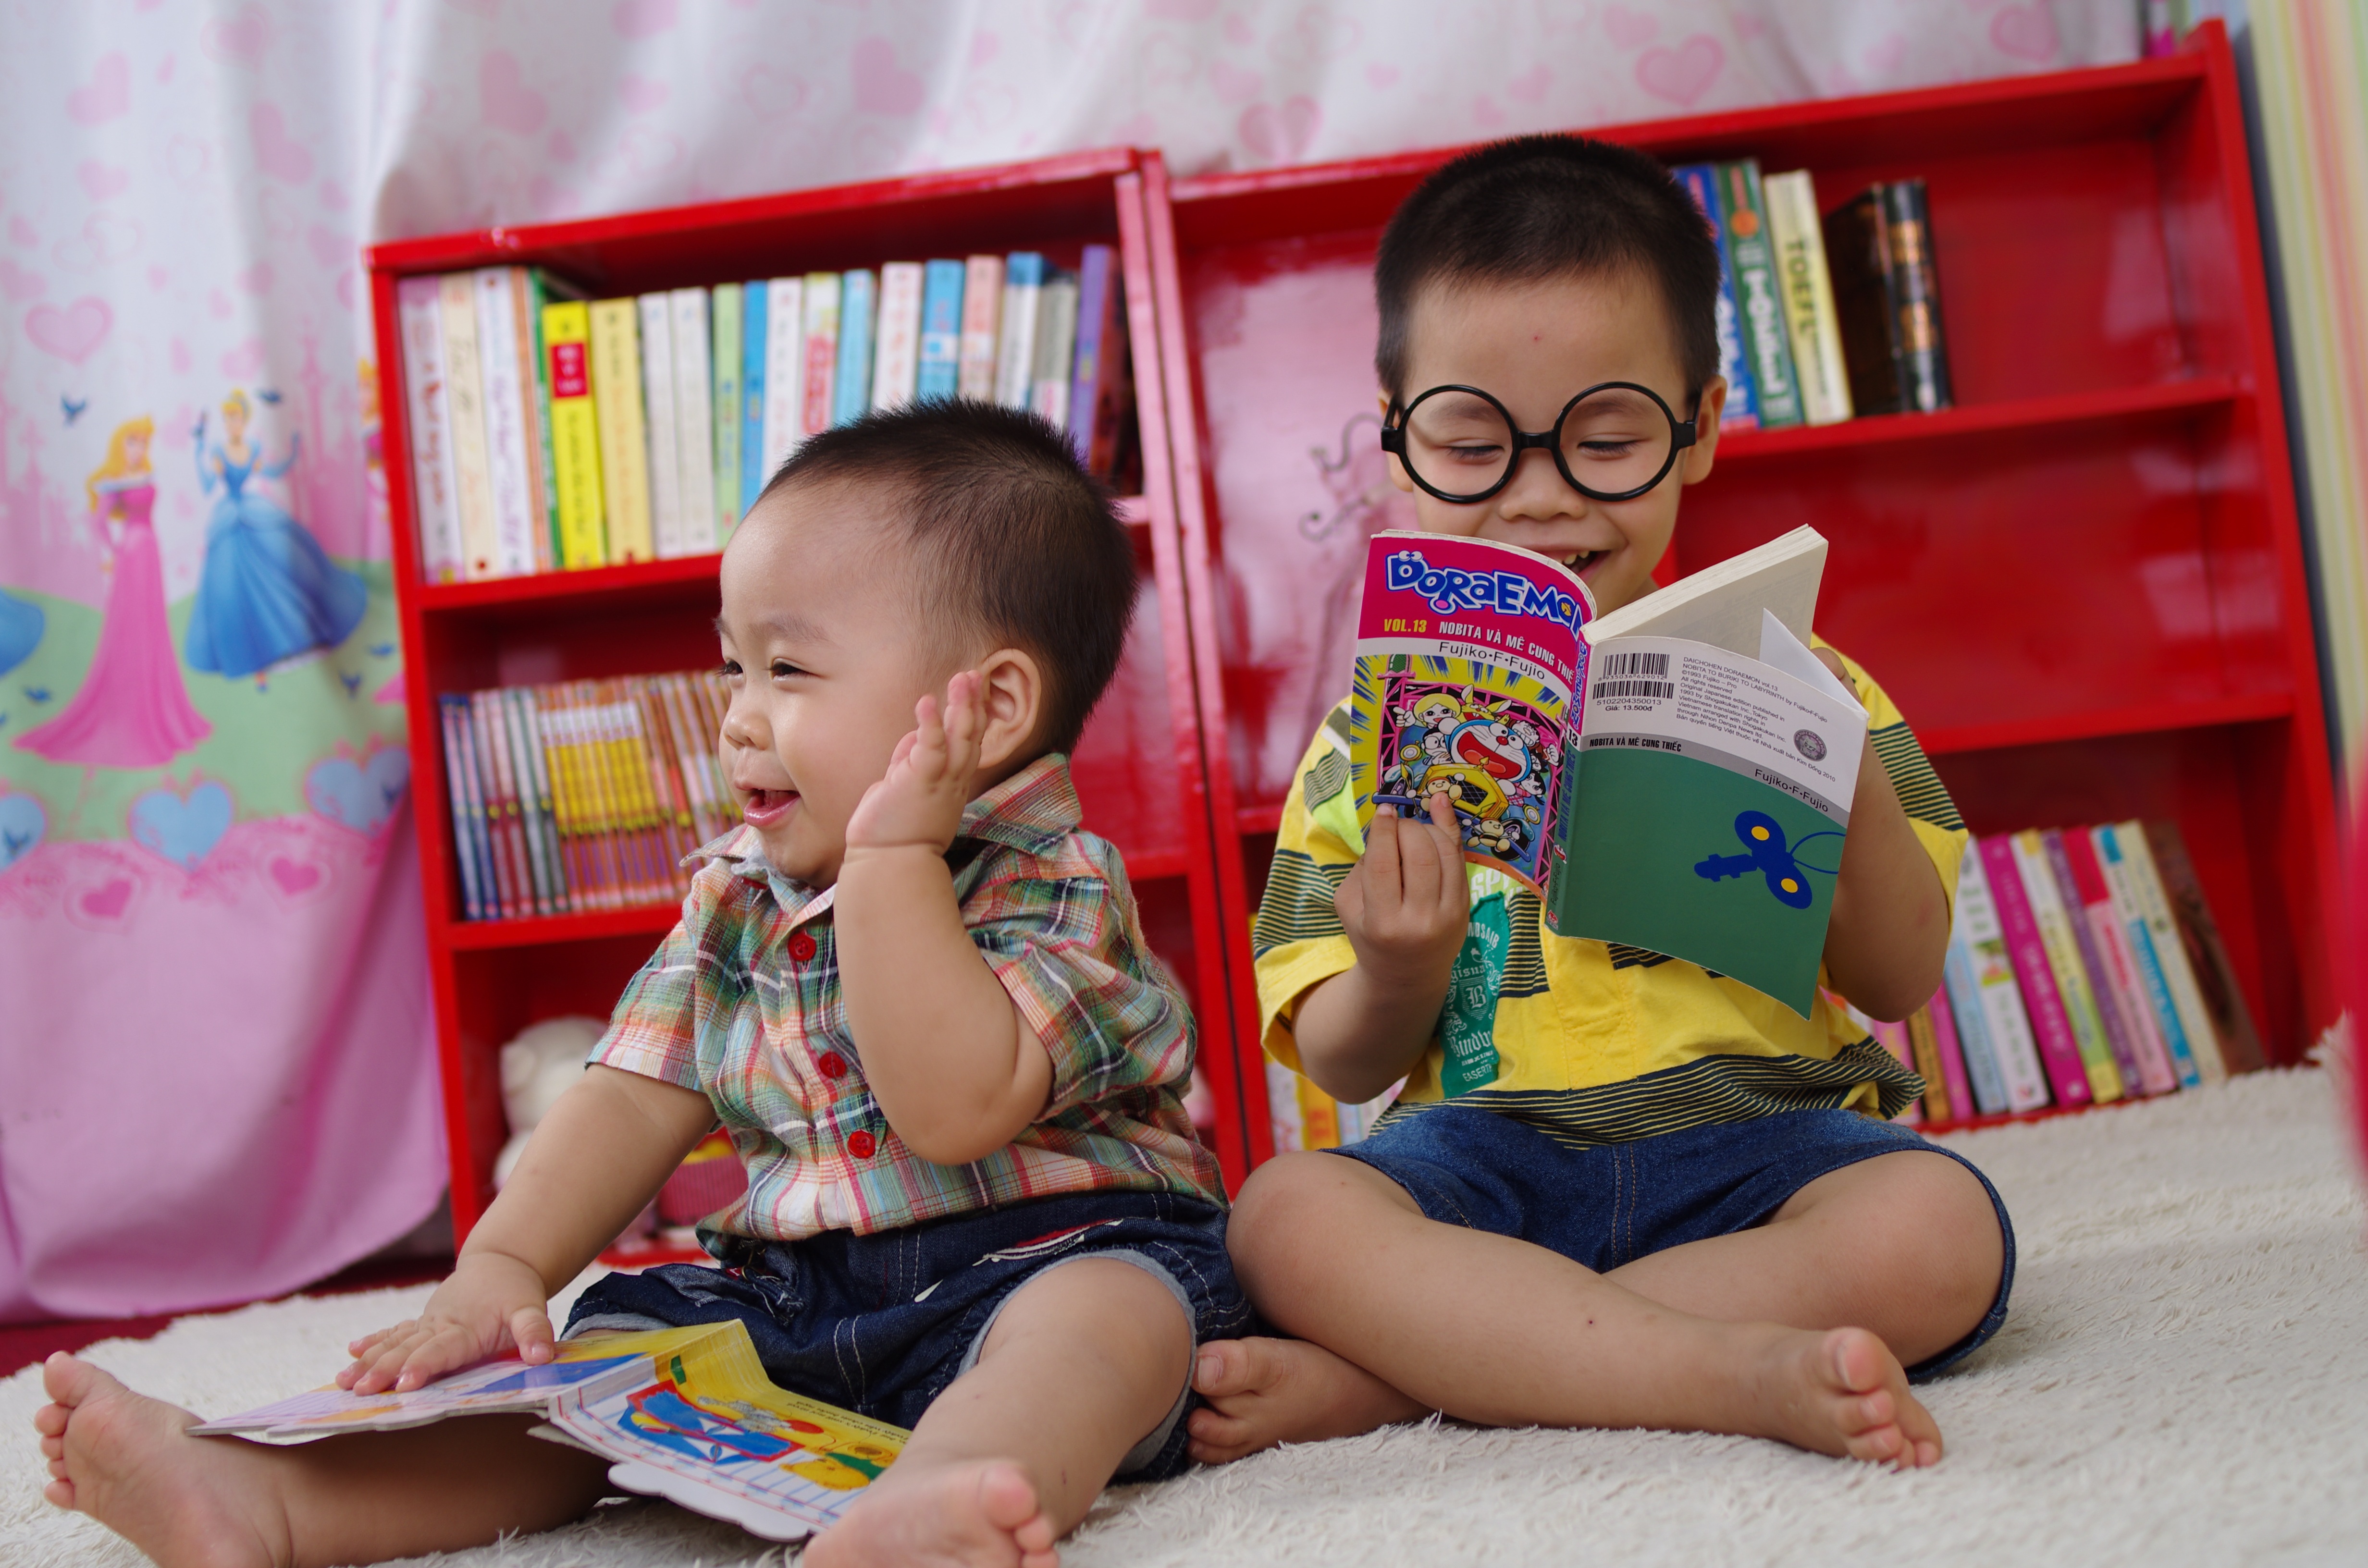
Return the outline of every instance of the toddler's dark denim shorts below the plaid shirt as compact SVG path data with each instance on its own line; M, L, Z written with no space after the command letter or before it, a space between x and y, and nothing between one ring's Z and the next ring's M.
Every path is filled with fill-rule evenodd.
M1132 1262L1165 1284L1191 1319L1193 1350L1250 1329L1250 1303L1224 1255L1224 1210L1167 1191L1089 1191L871 1236L720 1236L718 1246L720 1270L670 1262L597 1279L575 1298L566 1331L739 1319L781 1388L914 1426L978 1362L1011 1293L1077 1258ZM1118 1480L1186 1469L1193 1402L1186 1376L1175 1409L1120 1461Z

